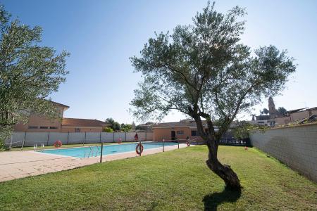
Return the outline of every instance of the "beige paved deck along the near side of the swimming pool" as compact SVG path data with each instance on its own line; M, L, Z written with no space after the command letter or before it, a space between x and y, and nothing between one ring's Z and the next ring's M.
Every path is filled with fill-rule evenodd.
M187 147L187 145L180 144L180 148L184 147ZM177 148L177 145L165 146L164 151L171 151ZM151 148L144 150L142 155L151 155L161 152L162 148ZM113 155L104 155L102 161L106 162L124 158L134 158L137 156L139 155L135 152L118 153ZM85 165L92 165L97 162L100 162L100 157L75 158L49 153L39 153L35 151L1 152L0 182L39 174L71 170Z

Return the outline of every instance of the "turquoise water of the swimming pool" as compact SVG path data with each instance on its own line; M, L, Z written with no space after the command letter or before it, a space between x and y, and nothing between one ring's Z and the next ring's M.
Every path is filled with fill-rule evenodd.
M144 150L150 148L162 148L163 143L158 142L143 142ZM165 142L164 146L173 146L177 145L175 142ZM135 151L137 143L122 143L122 144L111 144L104 145L102 155L111 155L116 153L126 153ZM76 158L87 158L100 156L101 146L85 146L85 147L76 147L76 148L63 148L63 149L53 149L53 150L44 150L42 153L49 153L55 155L66 155Z

